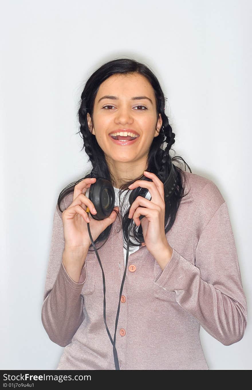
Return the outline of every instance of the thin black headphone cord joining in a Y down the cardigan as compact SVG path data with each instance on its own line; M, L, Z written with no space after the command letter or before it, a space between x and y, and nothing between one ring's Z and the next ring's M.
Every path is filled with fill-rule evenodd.
M89 212L87 211L87 214ZM107 327L107 323L106 323L106 298L105 298L105 294L106 294L106 287L105 287L105 277L104 277L104 272L103 272L103 269L102 269L102 264L100 262L100 257L99 257L99 254L97 252L97 249L95 248L95 243L93 241L93 238L92 238L92 235L91 235L91 231L90 231L90 226L89 226L89 222L87 222L87 225L88 225L88 234L89 234L89 237L90 237L90 240L92 242L92 245L93 245L93 248L95 250L95 254L97 255L97 259L99 261L99 264L100 264L100 268L102 269L102 281L103 281L103 294L104 294L104 299L103 299L103 318L104 318L104 323L105 323L105 326L106 326L106 330L107 330L107 334L109 335L109 339L113 345L113 355L114 355L114 362L115 362L115 369L116 370L120 370L120 367L119 367L119 362L118 362L118 355L117 355L117 351L116 351L116 329L117 329L117 324L118 324L118 318L119 318L119 312L120 312L120 303L121 303L121 297L122 297L122 291L123 291L123 284L124 284L124 280L125 280L125 276L126 276L126 271L127 271L127 264L128 264L128 258L129 258L129 236L130 236L130 230L131 230L131 227L132 227L132 223L134 222L133 218L132 220L130 221L130 225L129 225L129 234L128 234L128 239L127 239L127 254L126 254L126 264L125 264L125 270L124 270L124 274L123 274L123 279L122 279L122 284L121 284L121 289L120 289L120 296L119 296L119 303L118 303L118 308L117 308L117 314L116 314L116 323L115 323L115 335L114 335L114 340L112 340L112 337L111 337L111 334L108 330L108 327Z

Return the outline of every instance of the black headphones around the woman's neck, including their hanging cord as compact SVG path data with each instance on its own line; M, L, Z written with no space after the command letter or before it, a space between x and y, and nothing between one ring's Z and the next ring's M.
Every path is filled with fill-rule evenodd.
M141 177L140 180L152 181L152 179L150 179L146 176ZM173 194L173 192L176 188L176 184L177 184L176 169L174 169L174 165L171 162L171 170L170 170L169 176L168 176L167 180L164 182L164 190L167 189L167 194L165 195L166 199L169 199L169 197L171 197L171 195ZM86 190L85 195L86 195L86 197L88 197L88 199L91 200L91 202L93 203L93 205L95 206L95 209L97 211L97 214L95 214L95 215L90 214L89 209L87 207L86 212L88 213L88 216L91 216L95 220L103 220L104 218L107 218L112 213L112 211L115 207L115 191L114 191L113 185L111 184L111 182L109 180L104 179L104 177L97 177L95 183L91 184L90 188L88 188ZM152 199L152 196L150 195L148 188L137 187L137 188L134 188L134 190L132 190L132 192L130 193L130 196L129 196L130 206L132 205L132 203L134 202L134 200L138 196L142 196L143 198L148 199L148 200ZM140 215L139 219L141 220L144 217L145 217L144 215ZM129 232L131 230L133 222L134 222L134 220L132 218L130 221L130 225L129 225ZM97 252L97 249L95 248L95 243L93 241L93 238L92 238L92 235L90 232L89 223L87 223L87 225L88 225L88 233L90 236L90 240L91 240L93 248L95 250L95 254L97 255L97 258L98 258L98 261L100 264L100 268L102 269L100 257L99 257L99 254ZM139 225L138 232L139 232L139 234L142 233L141 224ZM103 293L104 293L103 317L104 317L104 323L106 326L107 334L109 335L109 339L113 345L113 354L114 354L114 362L115 362L115 369L116 370L120 370L117 351L116 351L116 347L115 347L116 329L117 329L118 317L119 317L119 312L120 312L120 302L121 302L121 296L122 296L122 291L123 291L123 284L124 284L125 275L126 275L126 271L127 271L128 258L129 258L129 235L128 235L128 240L127 240L126 264L125 264L125 270L124 270L121 289L120 289L118 309L117 309L117 314L116 314L114 340L111 337L111 334L107 328L107 323L106 323L106 299L105 299L106 287L105 287L104 272L102 269Z

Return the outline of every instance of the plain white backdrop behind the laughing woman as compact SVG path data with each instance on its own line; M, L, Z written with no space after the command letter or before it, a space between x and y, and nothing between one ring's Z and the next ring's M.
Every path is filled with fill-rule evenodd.
M58 195L87 169L78 101L97 67L129 57L159 78L176 154L218 186L229 209L248 326L231 346L201 328L206 361L210 370L251 369L252 3L44 0L1 8L0 368L57 367L63 348L48 338L41 306Z

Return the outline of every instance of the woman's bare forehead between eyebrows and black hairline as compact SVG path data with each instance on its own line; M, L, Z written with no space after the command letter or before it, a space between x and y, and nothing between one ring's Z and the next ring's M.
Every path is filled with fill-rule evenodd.
M141 74L113 74L101 83L95 102L104 95L118 96L119 99L140 95L155 97L152 85Z

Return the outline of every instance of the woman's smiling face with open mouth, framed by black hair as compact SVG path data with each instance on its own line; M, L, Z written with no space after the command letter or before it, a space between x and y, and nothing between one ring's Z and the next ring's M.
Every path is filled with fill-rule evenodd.
M91 118L89 113L87 115L91 130ZM159 135L161 126L154 90L145 77L136 73L114 74L100 85L94 102L92 133L105 156L115 166L120 162L134 162L143 165L144 170L153 137ZM113 142L109 134L124 133L124 129L129 132L134 130L139 137L128 145Z

